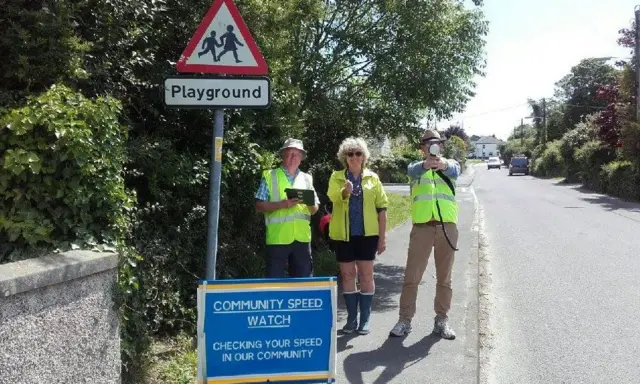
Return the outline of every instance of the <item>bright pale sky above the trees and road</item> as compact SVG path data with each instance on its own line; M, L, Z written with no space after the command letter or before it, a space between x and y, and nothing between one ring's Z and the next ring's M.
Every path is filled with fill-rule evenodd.
M640 0L484 0L489 21L485 76L466 110L437 123L462 124L469 136L506 140L531 115L527 99L552 97L554 84L588 57L628 58L618 31L634 19ZM527 120L525 119L525 124Z

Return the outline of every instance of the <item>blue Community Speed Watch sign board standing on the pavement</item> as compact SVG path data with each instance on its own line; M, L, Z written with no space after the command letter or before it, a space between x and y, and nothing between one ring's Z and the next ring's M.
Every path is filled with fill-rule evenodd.
M203 280L198 383L333 383L335 277Z

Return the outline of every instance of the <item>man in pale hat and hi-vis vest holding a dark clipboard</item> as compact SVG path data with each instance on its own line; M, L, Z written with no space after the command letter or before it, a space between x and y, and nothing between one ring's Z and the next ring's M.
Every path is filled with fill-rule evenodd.
M282 166L262 174L256 210L264 213L267 227L267 277L284 277L287 264L290 277L312 274L310 220L318 211L320 201L311 175L298 169L306 154L302 141L287 139L280 148ZM314 205L287 199L287 188L313 190Z

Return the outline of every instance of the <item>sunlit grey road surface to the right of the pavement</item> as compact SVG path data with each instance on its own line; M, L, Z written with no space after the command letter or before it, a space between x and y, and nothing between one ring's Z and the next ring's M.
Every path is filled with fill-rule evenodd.
M640 382L640 204L476 171L493 303L487 382Z

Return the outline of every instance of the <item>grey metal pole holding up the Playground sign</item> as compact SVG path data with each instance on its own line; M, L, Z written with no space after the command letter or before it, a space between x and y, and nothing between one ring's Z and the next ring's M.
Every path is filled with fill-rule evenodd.
M207 231L207 280L216 279L218 254L218 218L220 217L220 182L222 179L222 137L224 109L213 112L213 148L209 173L209 225Z

